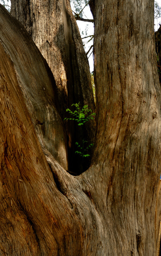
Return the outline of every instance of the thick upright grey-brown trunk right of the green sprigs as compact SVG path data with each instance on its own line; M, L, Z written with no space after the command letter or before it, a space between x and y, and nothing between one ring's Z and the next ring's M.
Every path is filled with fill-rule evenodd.
M105 213L107 255L156 255L161 122L153 7L151 0L95 1L92 162L106 181L94 200Z

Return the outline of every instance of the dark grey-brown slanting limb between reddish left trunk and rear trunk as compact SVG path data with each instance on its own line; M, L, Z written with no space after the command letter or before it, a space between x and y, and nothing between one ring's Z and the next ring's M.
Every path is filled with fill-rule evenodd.
M68 170L67 138L56 109L58 99L53 74L23 26L2 6L0 12L1 42L14 63L39 141Z

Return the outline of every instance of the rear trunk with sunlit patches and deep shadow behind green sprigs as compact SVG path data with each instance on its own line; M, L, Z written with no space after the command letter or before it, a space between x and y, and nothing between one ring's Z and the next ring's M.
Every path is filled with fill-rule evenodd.
M11 14L24 25L33 41L46 59L54 75L60 101L62 118L69 117L66 112L73 103L87 104L94 112L94 99L91 85L89 63L83 48L82 39L72 14L69 0L11 1ZM85 160L75 155L78 148L75 142L83 138L94 141L95 122L89 121L83 127L76 122L65 122L68 146L69 169L82 173L89 166ZM91 151L92 153L92 151Z

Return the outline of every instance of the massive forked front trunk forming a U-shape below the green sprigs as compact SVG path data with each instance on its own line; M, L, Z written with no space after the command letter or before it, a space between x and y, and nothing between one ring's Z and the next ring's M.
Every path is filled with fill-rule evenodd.
M31 122L19 88L30 81L38 51L27 65L30 40L0 7L0 25L6 27L0 34L2 255L159 256L161 127L153 2L94 4L98 125L92 164L76 177L46 146L42 152L35 116ZM19 44L5 41L11 35ZM24 69L24 61L22 72L17 66ZM24 97L31 97L27 89Z

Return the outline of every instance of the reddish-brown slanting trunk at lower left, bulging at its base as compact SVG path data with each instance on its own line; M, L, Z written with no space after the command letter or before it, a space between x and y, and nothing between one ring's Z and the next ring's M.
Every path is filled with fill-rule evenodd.
M0 51L0 254L100 255L102 218L77 177L42 152L14 65Z

